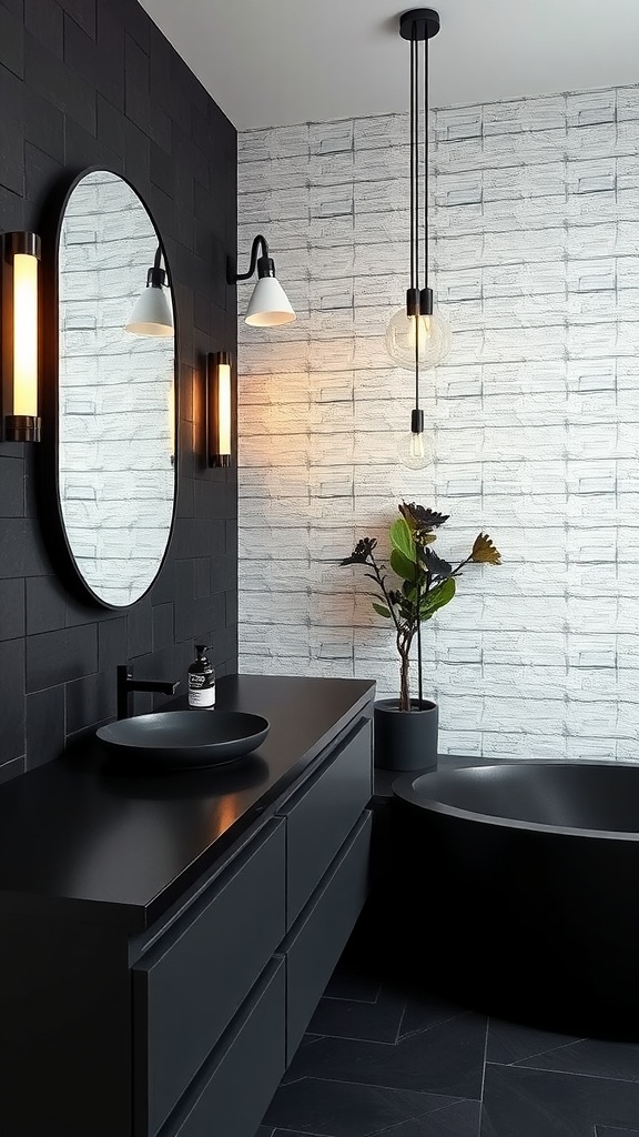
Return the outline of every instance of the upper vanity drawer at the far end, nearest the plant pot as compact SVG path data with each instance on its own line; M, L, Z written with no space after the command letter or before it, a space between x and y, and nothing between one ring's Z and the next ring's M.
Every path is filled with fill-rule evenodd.
M287 921L290 928L372 794L372 724L363 721L329 764L279 811L287 818Z

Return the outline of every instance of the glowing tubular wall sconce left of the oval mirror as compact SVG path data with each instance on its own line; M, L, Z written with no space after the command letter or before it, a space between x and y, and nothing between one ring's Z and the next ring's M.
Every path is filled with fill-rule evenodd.
M3 233L2 396L7 442L39 442L36 233Z

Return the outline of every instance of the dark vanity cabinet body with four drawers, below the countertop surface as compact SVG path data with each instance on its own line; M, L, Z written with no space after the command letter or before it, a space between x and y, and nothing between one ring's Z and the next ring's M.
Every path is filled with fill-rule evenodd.
M147 927L0 889L1 1132L254 1137L366 899L371 713Z

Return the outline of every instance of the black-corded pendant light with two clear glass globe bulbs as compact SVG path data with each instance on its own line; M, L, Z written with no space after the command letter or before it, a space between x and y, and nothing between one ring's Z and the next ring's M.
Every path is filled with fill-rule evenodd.
M424 413L420 408L420 368L437 366L450 351L450 327L441 313L434 310L433 292L429 287L429 40L437 35L439 26L439 14L432 8L413 8L399 18L399 34L410 43L410 287L406 292L406 306L389 322L385 345L393 363L415 374L410 433L401 440L398 450L404 465L413 470L423 468L432 457L430 440L424 435ZM422 66L420 57L423 57Z

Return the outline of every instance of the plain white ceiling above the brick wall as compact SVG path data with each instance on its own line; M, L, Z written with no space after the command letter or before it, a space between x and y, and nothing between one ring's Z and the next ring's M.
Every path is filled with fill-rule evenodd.
M141 0L239 130L407 108L393 0ZM433 107L639 80L639 0L441 0Z

